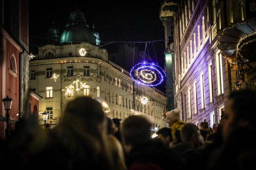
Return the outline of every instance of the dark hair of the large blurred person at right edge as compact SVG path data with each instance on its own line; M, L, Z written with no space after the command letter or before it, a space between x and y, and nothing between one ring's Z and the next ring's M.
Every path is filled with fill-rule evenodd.
M250 125L256 127L256 93L251 90L242 90L240 92L231 93L229 99L233 101L231 109L234 113L234 123L237 123L239 120L245 120L250 122Z

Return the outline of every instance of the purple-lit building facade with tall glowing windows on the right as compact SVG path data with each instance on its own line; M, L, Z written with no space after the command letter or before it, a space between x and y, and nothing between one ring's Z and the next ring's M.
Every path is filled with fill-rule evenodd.
M237 66L222 56L218 36L225 28L255 17L250 16L254 5L245 0L163 2L160 19L174 24L174 43L166 53L172 59L175 107L182 110L184 121L197 125L206 121L211 127L219 123L227 96L239 83ZM255 32L253 25L251 30Z

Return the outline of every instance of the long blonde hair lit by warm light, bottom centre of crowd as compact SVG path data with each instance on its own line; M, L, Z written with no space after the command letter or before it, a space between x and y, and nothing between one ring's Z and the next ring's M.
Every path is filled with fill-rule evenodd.
M110 156L113 159L114 168L118 170L126 170L125 156L121 143L113 135L107 135L107 147Z

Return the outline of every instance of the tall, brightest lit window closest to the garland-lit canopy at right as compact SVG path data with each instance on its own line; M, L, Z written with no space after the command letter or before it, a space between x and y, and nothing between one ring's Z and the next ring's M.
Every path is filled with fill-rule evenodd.
M224 93L223 90L223 76L222 76L222 59L221 54L215 54L215 68L216 68L216 86L217 86L217 96Z

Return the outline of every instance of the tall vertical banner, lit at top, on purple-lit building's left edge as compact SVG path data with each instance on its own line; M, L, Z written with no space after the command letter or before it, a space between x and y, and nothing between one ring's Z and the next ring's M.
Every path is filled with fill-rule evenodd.
M165 53L167 111L174 109L172 53Z

